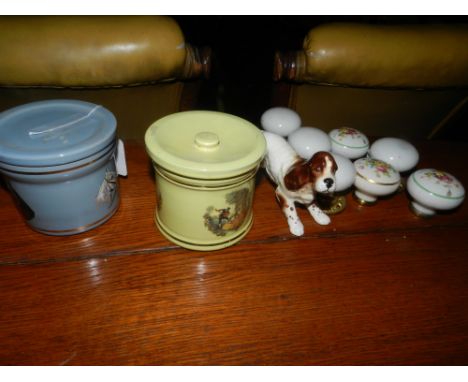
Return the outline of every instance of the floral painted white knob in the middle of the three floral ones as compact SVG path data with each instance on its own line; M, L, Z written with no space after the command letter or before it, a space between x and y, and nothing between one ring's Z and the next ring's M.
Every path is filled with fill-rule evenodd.
M400 185L400 173L388 163L361 158L354 162L354 167L354 196L360 204L373 204L379 196L395 192Z

